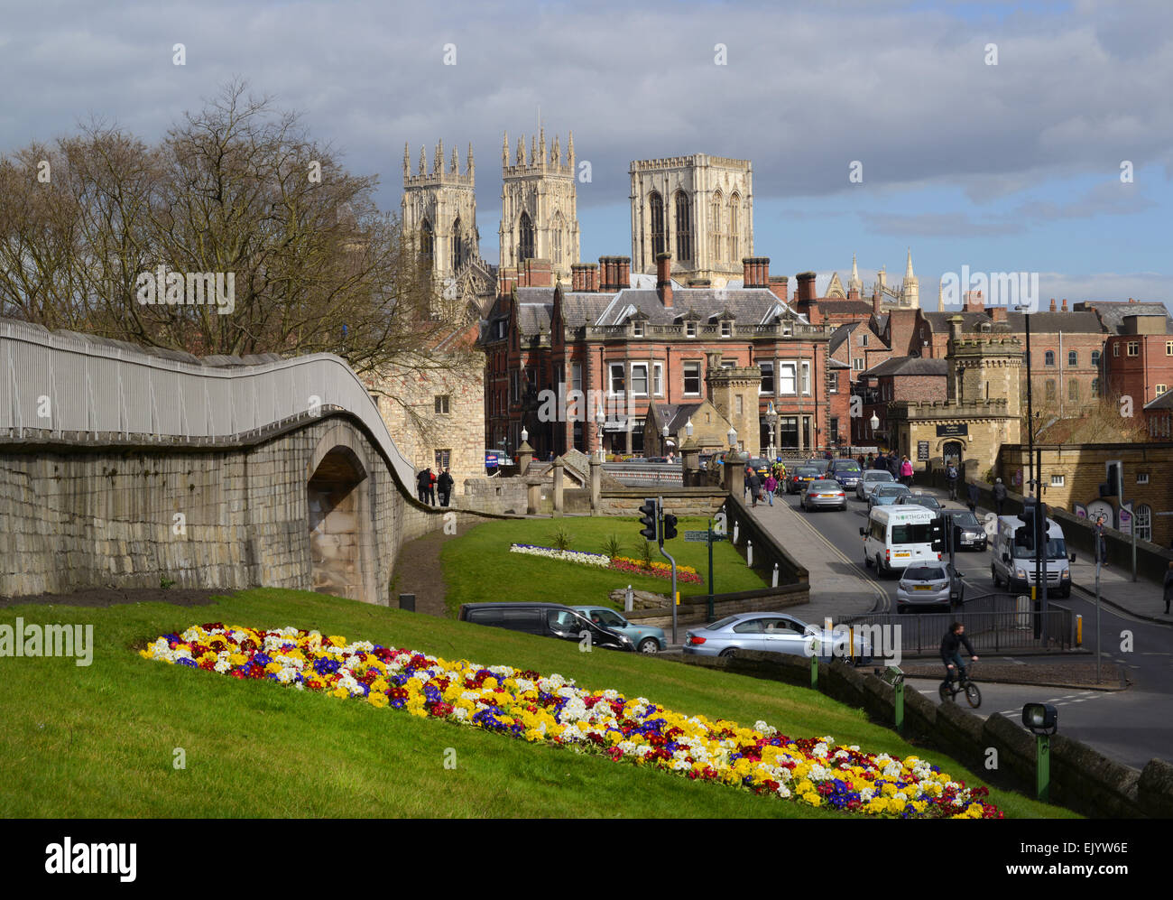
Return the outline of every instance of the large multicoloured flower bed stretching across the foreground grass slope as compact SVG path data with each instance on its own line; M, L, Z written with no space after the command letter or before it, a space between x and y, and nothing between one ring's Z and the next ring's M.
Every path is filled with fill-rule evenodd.
M163 635L140 654L177 665L325 691L405 709L615 762L865 816L1002 818L986 789L968 789L917 757L897 759L789 738L765 722L748 729L687 717L644 697L589 691L561 675L481 666L317 631L262 631L219 622Z

